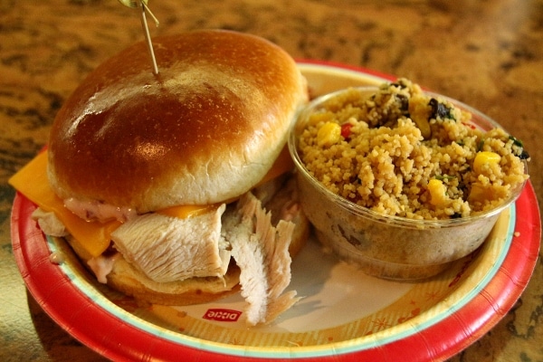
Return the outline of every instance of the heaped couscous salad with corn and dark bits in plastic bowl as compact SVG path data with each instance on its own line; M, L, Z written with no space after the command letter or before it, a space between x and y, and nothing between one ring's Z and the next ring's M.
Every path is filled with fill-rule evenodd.
M471 117L406 79L369 98L352 89L310 115L300 158L330 191L381 214L481 214L525 182L529 155L503 129L484 132Z

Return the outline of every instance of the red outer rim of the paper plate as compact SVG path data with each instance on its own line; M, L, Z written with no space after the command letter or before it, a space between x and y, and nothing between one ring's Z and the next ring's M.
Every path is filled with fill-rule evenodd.
M300 61L338 68L379 78L393 79L376 71L333 62ZM15 261L33 298L51 318L89 348L114 360L190 360L238 361L239 356L219 355L211 351L180 345L157 338L97 307L87 295L71 284L66 275L49 260L50 251L42 231L31 218L34 205L17 193L11 217L11 237ZM467 348L494 327L513 307L528 285L538 259L541 224L533 186L527 183L516 202L515 233L504 261L494 278L461 309L448 318L418 330L408 338L391 341L384 347L355 350L341 355L300 358L304 361L392 361L407 351L418 360L445 359ZM79 308L73 310L71 307ZM136 318L136 317L135 317ZM461 336L462 338L459 338ZM278 358L252 360L277 361Z

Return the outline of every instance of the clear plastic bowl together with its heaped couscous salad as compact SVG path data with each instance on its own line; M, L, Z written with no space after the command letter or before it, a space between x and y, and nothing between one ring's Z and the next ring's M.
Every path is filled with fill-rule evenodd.
M529 177L517 138L405 79L313 100L289 148L319 242L394 280L476 250Z

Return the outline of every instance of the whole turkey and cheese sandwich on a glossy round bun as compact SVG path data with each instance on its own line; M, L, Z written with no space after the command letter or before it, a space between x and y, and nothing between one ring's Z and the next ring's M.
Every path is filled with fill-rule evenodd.
M163 305L241 291L247 322L269 323L299 300L285 290L309 224L285 145L306 81L250 34L153 43L157 74L145 43L100 64L10 183L98 281Z

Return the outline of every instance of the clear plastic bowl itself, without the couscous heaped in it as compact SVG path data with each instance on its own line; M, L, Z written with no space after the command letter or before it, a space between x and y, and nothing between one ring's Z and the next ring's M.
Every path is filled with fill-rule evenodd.
M375 87L359 90L373 93ZM523 186L499 207L476 216L447 220L415 220L378 214L333 194L310 175L298 154L298 138L310 114L345 90L313 100L291 129L289 149L297 168L300 202L313 224L319 242L368 274L391 280L431 277L476 250L485 241L502 210L520 195ZM472 113L472 123L483 130L500 127L478 110L442 95L455 107ZM526 162L524 163L527 172Z

